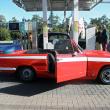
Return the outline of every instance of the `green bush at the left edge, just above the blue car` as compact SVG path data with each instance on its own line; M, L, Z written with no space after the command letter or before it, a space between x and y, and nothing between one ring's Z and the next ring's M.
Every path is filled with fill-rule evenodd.
M0 41L11 40L10 32L6 28L0 28Z

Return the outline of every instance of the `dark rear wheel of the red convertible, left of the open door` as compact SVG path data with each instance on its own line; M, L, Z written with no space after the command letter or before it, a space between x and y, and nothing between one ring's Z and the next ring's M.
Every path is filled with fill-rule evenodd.
M33 81L35 78L35 72L30 67L20 68L18 74L20 79L25 82Z

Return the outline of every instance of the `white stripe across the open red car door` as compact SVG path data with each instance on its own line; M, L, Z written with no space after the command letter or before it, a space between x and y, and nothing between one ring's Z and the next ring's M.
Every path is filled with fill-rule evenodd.
M87 61L87 57L58 58L58 62L80 62Z

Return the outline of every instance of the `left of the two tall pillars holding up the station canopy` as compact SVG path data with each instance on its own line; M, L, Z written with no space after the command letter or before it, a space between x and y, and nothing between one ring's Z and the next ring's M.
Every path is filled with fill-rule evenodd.
M42 0L43 10L43 47L48 49L47 0Z

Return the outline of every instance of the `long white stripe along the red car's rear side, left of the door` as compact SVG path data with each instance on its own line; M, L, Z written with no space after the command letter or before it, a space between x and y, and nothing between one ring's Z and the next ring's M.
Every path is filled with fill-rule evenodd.
M4 56L0 59L47 59L47 56Z

